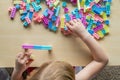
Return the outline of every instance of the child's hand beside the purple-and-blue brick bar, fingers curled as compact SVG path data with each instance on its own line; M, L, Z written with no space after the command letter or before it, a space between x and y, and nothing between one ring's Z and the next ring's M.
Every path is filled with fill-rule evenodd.
M23 73L33 62L33 59L30 58L31 52L25 50L18 54L16 63L15 63L15 72Z

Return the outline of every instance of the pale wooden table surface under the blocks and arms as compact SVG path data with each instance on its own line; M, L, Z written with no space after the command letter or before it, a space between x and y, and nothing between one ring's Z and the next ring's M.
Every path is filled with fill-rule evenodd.
M42 4L43 5L43 4ZM33 50L35 61L32 66L39 66L47 61L66 61L72 65L86 65L92 59L87 46L78 38L65 37L60 31L57 33L45 29L42 24L32 22L30 28L25 29L17 13L12 21L8 15L8 8L12 0L0 1L0 66L13 67L17 53L22 51L23 43L52 45L51 54L48 51ZM45 5L44 5L45 6ZM69 4L69 8L73 8ZM110 16L110 34L98 41L109 56L109 65L120 65L120 0L112 2ZM43 9L44 10L44 9ZM60 12L63 14L63 11Z

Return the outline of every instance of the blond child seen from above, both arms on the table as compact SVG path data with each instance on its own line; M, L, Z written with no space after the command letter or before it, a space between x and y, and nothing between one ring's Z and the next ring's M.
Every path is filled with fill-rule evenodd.
M29 80L90 80L108 63L108 57L96 40L85 30L79 19L66 23L73 34L76 34L88 46L93 60L75 75L73 67L62 61L48 62L40 66ZM18 54L12 80L23 80L22 73L32 63L31 52L26 50Z

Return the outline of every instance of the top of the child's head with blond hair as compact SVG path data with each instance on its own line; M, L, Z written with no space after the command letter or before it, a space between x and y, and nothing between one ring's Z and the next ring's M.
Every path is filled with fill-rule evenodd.
M62 61L43 64L31 80L75 80L73 67Z

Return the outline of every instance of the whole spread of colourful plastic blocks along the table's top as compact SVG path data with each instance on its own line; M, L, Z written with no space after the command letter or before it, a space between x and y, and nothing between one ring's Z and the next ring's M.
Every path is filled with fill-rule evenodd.
M16 12L20 12L20 19L23 25L28 27L32 21L43 23L45 28L56 32L59 29L64 35L70 35L71 30L65 25L73 19L80 19L86 30L96 39L103 38L109 33L109 20L111 0L70 0L76 8L70 13L67 2L62 1L62 9L64 15L59 16L60 1L46 0L48 8L43 10L42 14L39 11L42 9L41 0L13 0L13 7L9 8L10 18L14 19Z

